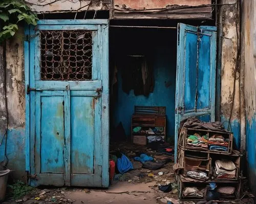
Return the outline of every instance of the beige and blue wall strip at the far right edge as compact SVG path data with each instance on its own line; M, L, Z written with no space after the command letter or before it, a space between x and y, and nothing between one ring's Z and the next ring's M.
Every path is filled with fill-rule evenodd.
M247 176L256 193L256 2L241 4L241 69L244 71Z

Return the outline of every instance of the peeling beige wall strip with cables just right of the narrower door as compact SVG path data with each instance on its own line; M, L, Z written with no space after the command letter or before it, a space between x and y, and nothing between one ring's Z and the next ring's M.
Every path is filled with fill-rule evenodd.
M221 38L221 93L220 109L221 121L226 128L231 127L234 133L236 145L240 148L240 72L237 66L237 48L238 36L240 32L239 21L237 24L236 0L223 0L220 4L220 26L222 32L219 32ZM219 26L219 31L220 31ZM239 63L239 61L238 61ZM239 65L239 64L238 64ZM237 69L237 71L236 71ZM232 112L232 114L231 114ZM231 118L230 118L231 116ZM230 119L230 124L229 124Z

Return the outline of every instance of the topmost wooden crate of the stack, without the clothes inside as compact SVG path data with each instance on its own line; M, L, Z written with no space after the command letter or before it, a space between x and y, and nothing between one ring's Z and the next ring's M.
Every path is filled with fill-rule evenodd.
M186 145L188 135L194 134L196 132L200 132L201 134L207 135L211 137L213 134L221 134L225 139L229 139L228 141L228 150L227 151L219 151L219 150L209 150L209 148L201 148L201 147L189 147ZM232 145L233 145L233 134L231 132L221 132L221 131L211 131L204 129L194 129L194 128L186 128L182 127L179 138L178 138L178 146L184 150L194 150L194 151L202 151L202 152L212 152L212 153L223 153L223 154L231 154L232 153Z

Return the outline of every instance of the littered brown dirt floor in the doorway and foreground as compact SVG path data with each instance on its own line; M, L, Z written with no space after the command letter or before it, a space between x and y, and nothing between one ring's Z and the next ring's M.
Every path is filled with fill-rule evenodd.
M129 143L111 145L110 153L115 151L124 153L133 163L134 170L124 174L116 174L111 186L108 189L90 188L49 188L40 187L33 189L26 196L14 199L7 197L3 204L10 203L197 203L196 201L180 201L178 199L178 186L173 171L174 157L165 155L145 146L134 146ZM154 157L156 161L172 160L158 170L148 170L142 168L140 162L133 160L134 156L146 153ZM172 185L172 191L164 193L159 190L160 185ZM253 203L251 200L228 203Z

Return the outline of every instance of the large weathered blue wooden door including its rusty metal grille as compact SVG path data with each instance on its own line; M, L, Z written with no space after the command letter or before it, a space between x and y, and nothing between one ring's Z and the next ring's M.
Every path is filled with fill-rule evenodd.
M108 187L108 21L40 20L27 33L30 184Z

